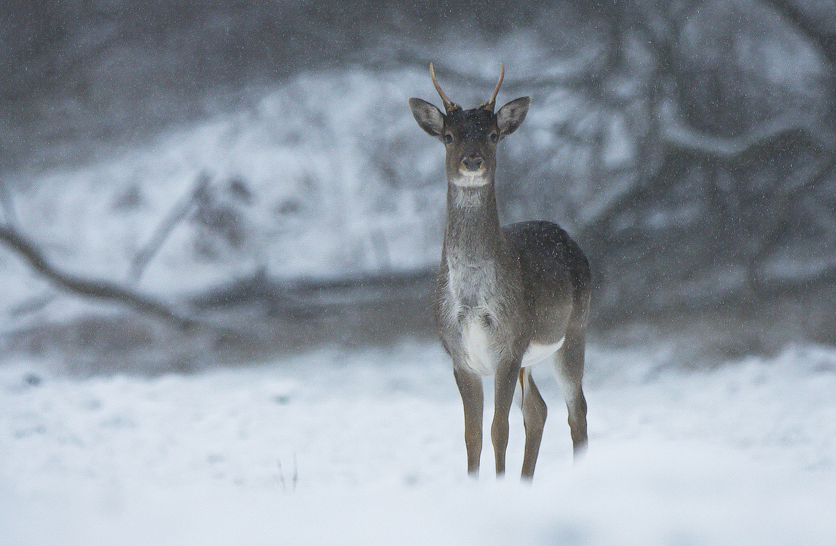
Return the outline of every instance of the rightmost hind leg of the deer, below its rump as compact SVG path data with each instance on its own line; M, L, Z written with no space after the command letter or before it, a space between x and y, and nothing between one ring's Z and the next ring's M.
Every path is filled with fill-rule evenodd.
M574 458L586 452L586 398L581 382L584 378L586 329L569 326L563 348L555 356L554 367L568 409L569 431L572 433Z

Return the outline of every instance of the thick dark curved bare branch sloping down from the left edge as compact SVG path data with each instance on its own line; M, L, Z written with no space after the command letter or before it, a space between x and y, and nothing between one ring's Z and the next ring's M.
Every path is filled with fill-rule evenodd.
M26 240L17 230L8 225L0 226L0 240L9 248L23 255L24 258L41 275L52 281L56 286L80 296L93 297L104 301L113 301L128 306L135 311L142 311L157 316L164 321L173 322L176 326L188 329L196 326L194 319L181 316L179 313L150 296L145 296L127 288L107 281L90 281L79 279L63 271L59 271L43 256L33 242Z

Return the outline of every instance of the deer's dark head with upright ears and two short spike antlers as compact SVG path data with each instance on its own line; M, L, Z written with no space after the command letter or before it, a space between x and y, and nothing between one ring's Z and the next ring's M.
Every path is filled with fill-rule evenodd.
M427 134L440 139L447 151L447 180L459 187L480 187L492 183L497 166L497 144L512 134L528 114L529 97L520 97L494 113L494 104L505 77L499 65L499 81L491 99L475 109L465 110L447 99L436 80L430 63L430 75L436 91L444 102L446 114L435 105L421 99L410 99L415 121Z

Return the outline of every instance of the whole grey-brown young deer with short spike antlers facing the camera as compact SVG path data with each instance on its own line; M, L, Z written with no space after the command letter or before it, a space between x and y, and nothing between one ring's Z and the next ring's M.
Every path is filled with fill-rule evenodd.
M589 316L589 262L558 225L546 221L499 225L494 173L497 144L523 123L531 99L512 100L495 114L505 69L487 103L464 110L447 99L430 64L446 114L410 99L415 120L444 143L447 219L434 314L465 411L467 473L479 475L482 455L482 377L494 377L491 426L497 476L505 473L508 412L517 380L526 440L523 480L537 463L546 404L531 366L552 359L568 407L574 455L587 445L581 389Z

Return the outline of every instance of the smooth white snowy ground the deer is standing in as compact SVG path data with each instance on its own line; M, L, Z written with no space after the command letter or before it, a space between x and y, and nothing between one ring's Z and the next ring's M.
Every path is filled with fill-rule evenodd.
M516 408L512 475L495 481L486 445L466 479L435 344L150 379L5 364L0 543L836 543L836 351L683 368L664 347L592 347L577 465L538 369L550 414L528 488Z

